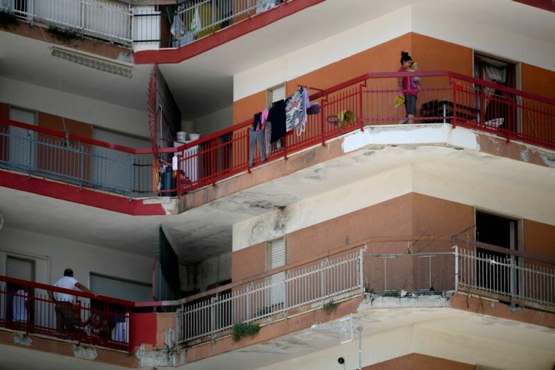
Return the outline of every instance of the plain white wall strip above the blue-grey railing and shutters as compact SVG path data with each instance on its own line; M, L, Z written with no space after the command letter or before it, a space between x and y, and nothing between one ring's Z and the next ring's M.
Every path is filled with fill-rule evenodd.
M148 115L121 105L0 77L0 102L148 137Z

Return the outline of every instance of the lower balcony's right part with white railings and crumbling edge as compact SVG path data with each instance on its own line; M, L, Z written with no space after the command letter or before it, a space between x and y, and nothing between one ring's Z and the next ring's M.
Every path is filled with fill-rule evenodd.
M180 351L187 349L187 362L266 340L271 345L276 337L293 335L302 342L314 324L311 320L338 319L339 312L366 317L361 322L371 322L374 330L386 325L386 320L379 323L372 316L383 310L434 308L441 316L452 308L462 309L459 297L468 297L467 303L479 297L507 308L555 312L555 261L468 240L457 245L460 241L429 235L369 238L160 304L178 307L178 345ZM497 256L499 249L502 256ZM511 279L518 281L513 288L508 285ZM372 313L377 309L382 311ZM252 326L259 334L241 337L238 325ZM302 333L294 333L299 330Z

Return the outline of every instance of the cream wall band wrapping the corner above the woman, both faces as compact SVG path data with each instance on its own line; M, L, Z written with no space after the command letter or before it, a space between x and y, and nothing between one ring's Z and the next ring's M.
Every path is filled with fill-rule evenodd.
M538 24L554 23L552 12L515 1L414 0L410 6L237 73L233 78L233 100L264 91L409 32L555 71L552 33L536 28Z

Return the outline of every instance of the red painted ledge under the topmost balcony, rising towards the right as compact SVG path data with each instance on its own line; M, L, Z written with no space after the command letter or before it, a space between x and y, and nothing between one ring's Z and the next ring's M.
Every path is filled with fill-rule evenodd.
M323 1L325 0L293 0L177 49L137 51L134 54L135 64L182 62Z

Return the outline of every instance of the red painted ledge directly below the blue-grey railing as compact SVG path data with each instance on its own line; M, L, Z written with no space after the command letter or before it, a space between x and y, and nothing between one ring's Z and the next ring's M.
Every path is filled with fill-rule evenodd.
M87 188L79 190L77 186L38 177L27 177L4 170L0 170L0 186L128 215L166 214L162 204L143 204L142 200L129 201L128 198L118 195L101 193Z

